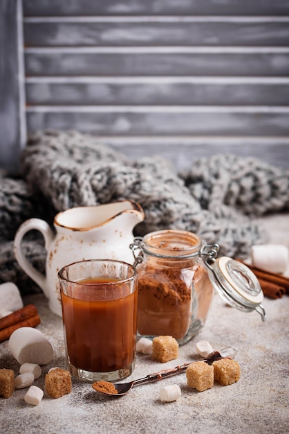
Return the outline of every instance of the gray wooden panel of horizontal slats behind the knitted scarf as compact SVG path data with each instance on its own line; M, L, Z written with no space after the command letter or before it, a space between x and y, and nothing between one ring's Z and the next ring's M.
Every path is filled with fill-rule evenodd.
M289 162L289 0L23 0L26 122L178 170Z

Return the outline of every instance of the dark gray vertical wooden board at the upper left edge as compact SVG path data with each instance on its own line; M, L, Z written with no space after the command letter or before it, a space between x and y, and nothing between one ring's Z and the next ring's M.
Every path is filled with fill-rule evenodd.
M26 144L21 1L0 0L0 168L17 171Z

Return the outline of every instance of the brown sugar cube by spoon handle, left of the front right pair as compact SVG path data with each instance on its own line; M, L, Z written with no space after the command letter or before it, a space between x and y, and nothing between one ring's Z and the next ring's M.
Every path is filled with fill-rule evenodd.
M187 385L199 392L210 389L214 385L214 367L205 362L191 363L186 370Z

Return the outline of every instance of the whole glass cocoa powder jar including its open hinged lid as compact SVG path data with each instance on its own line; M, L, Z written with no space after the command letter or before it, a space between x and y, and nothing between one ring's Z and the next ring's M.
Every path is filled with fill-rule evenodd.
M167 229L136 238L131 249L139 282L138 336L173 336L185 344L205 324L214 288L236 309L257 310L265 320L257 278L239 261L216 259L218 245Z

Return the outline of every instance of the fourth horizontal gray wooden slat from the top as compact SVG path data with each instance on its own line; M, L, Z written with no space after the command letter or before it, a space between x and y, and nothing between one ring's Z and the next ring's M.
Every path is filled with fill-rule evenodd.
M102 80L102 81L101 81ZM143 81L142 81L143 80ZM280 83L229 83L210 78L205 83L196 79L145 80L136 83L129 80L107 80L98 83L83 77L82 82L73 79L67 83L46 80L26 81L26 103L28 105L288 105L289 78ZM185 82L185 83L184 83ZM277 83L276 83L277 82Z

